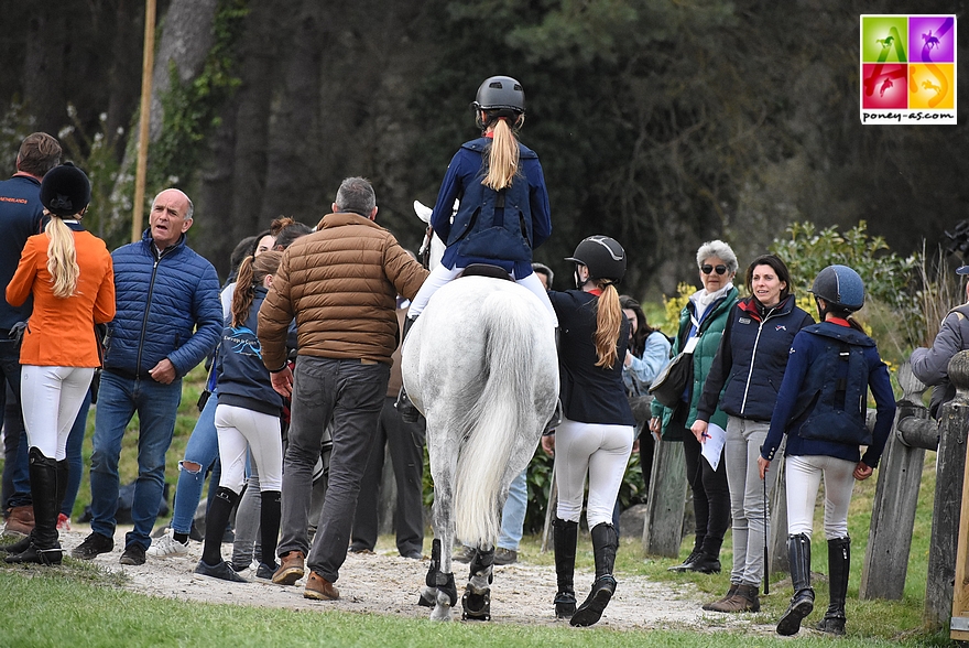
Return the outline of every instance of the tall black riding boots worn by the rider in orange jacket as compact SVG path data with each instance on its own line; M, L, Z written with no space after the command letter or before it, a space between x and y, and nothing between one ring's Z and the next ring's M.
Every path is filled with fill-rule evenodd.
M30 449L29 461L34 530L30 534L30 547L21 553L8 555L7 562L61 564L63 553L57 533L57 514L61 512L61 501L57 499L58 462L44 456L37 447Z

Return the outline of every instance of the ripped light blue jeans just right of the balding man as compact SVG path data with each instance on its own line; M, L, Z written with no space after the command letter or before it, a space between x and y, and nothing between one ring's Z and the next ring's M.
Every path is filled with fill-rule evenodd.
M187 533L192 530L192 520L195 518L195 509L202 500L202 490L205 486L205 475L214 469L219 461L219 435L216 432L216 406L218 398L213 393L202 408L198 421L185 445L185 457L178 463L178 485L175 487L175 512L172 515L172 530L177 533ZM185 462L198 464L200 468L192 472L185 467ZM209 501L218 488L219 480L213 473L209 484Z

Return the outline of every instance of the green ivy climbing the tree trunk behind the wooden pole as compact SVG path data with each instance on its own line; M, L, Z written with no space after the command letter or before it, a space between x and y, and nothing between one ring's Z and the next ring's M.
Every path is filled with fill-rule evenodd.
M164 121L152 142L145 197L173 184L187 183L206 150L206 138L219 126L219 111L241 84L236 46L249 14L246 0L220 0L213 22L215 43L202 74L185 83L168 68L170 90L162 96Z

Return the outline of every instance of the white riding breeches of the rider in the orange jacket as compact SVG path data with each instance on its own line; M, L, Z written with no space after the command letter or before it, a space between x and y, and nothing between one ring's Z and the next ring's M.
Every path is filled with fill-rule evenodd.
M94 375L94 367L21 367L20 404L31 447L58 462L67 457L67 436Z

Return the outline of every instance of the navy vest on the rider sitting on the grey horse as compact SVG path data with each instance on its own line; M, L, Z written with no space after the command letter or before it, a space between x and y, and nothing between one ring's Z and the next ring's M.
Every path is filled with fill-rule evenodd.
M491 140L480 138L462 144L465 149L483 155ZM520 158L537 158L519 144ZM532 260L532 207L529 202L529 182L521 174L512 179L511 186L500 192L484 186L487 169L464 187L460 207L454 217L447 246L458 245L462 257L502 259L505 261Z

